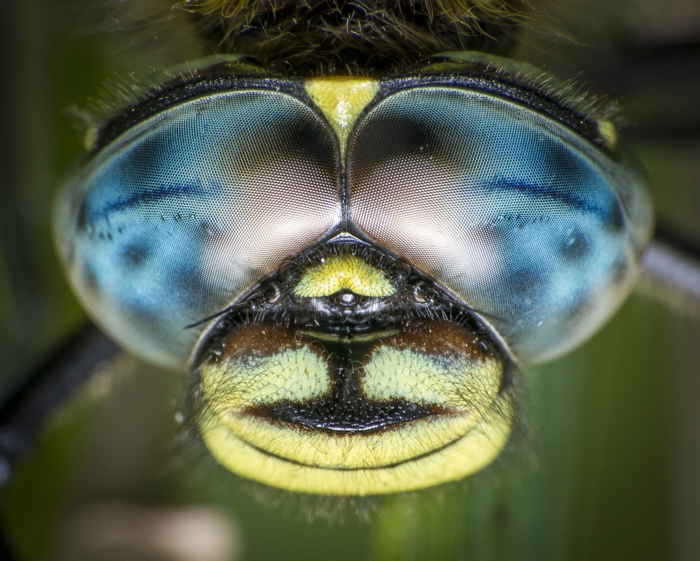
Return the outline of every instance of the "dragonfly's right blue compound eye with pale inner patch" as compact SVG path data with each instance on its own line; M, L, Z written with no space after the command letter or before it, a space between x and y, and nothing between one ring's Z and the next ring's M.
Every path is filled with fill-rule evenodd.
M587 337L650 233L640 174L570 127L487 92L388 95L349 148L349 212L493 326L524 362Z

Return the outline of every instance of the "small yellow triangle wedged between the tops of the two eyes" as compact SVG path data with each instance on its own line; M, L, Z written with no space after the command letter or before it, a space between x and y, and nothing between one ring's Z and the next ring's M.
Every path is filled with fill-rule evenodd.
M325 76L309 78L304 83L309 97L321 109L340 141L345 146L352 125L379 91L379 82L371 78L353 76Z

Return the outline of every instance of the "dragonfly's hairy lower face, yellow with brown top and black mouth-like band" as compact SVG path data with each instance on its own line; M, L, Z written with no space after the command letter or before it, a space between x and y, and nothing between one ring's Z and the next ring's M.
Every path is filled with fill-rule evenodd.
M461 479L498 455L513 415L502 362L461 330L424 322L337 368L337 351L307 335L242 326L235 352L201 371L204 441L230 471L296 492Z

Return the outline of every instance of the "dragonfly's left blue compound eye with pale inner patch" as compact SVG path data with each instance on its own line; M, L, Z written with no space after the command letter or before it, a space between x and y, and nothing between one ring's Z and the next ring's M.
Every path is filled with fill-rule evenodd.
M102 148L59 201L57 230L85 307L152 361L183 366L218 312L339 221L335 144L272 90L216 92Z

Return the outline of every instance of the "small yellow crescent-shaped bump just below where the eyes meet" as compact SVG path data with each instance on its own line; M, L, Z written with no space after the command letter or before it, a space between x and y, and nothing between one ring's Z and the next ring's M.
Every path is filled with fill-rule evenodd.
M391 296L396 289L384 272L353 255L332 255L304 273L294 293L302 298L330 296L341 290L360 296Z

